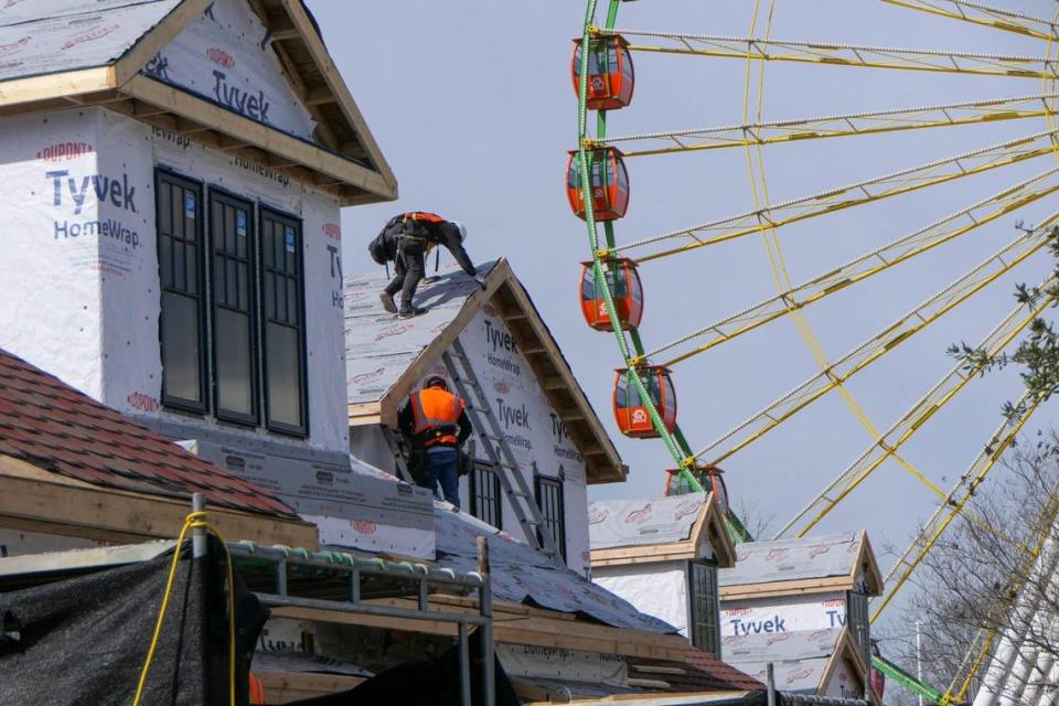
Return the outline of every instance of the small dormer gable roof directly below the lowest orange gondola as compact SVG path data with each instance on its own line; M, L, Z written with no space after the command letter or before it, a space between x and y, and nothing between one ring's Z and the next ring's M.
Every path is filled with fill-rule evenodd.
M592 566L698 559L704 542L709 542L719 567L736 563L736 548L713 493L592 501L588 535Z

